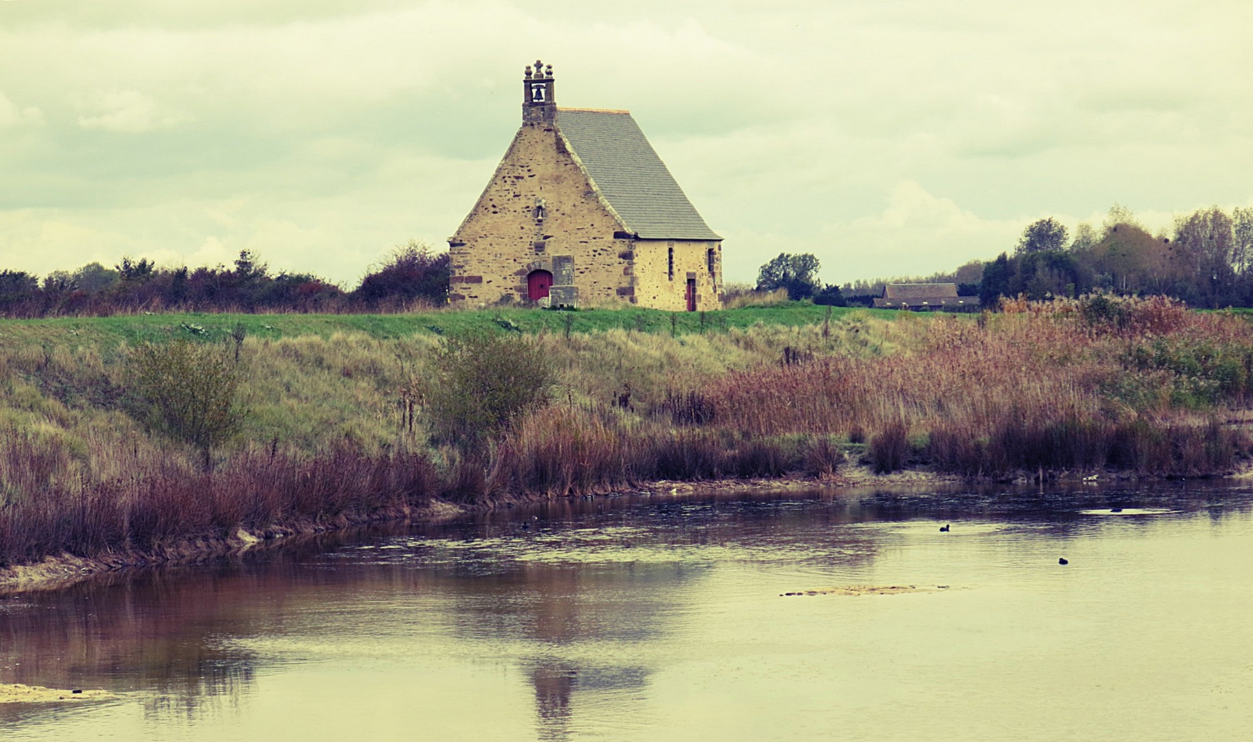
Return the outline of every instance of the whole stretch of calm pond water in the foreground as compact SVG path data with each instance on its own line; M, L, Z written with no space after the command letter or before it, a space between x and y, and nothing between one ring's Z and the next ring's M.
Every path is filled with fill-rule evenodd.
M517 508L0 600L0 682L118 693L5 741L1249 738L1253 496Z

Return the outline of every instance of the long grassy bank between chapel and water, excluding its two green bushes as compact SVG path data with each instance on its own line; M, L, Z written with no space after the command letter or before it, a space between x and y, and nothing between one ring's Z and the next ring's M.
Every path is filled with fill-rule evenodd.
M1232 469L1253 331L1167 301L985 317L791 305L0 323L0 563L360 521L445 500L669 479ZM672 326L673 318L673 326ZM238 330L242 327L242 332ZM444 337L524 337L546 404L481 445L432 437ZM207 470L134 412L135 348L236 332L244 410ZM234 342L234 340L228 340ZM286 525L284 525L286 524Z

